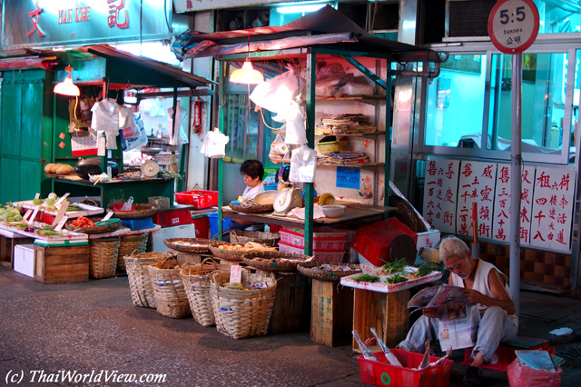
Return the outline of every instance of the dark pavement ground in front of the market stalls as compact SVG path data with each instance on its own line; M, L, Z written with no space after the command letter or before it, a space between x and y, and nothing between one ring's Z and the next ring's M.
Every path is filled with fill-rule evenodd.
M0 266L0 316L0 386L21 377L25 386L364 385L350 346L315 344L309 332L234 340L192 318L133 306L126 276L44 285ZM562 386L580 384L580 318L576 299L521 293L519 335L548 339L566 358ZM560 327L573 334L549 334ZM460 385L462 358L454 352L450 386ZM145 375L150 382L50 382L57 372ZM159 374L165 382L154 381ZM483 386L508 386L507 373L485 370Z

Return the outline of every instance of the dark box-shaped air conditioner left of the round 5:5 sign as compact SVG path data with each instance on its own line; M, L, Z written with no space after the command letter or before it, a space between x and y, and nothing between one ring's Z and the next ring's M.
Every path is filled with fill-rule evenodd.
M488 15L497 0L446 0L446 37L488 36Z

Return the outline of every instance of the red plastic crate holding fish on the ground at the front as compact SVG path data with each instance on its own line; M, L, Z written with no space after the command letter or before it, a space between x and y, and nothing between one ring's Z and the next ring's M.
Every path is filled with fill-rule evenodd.
M407 352L393 349L391 352L396 355L403 367L391 365L386 362L383 352L373 353L379 362L365 359L362 355L359 360L359 372L361 382L376 386L389 387L446 387L450 382L450 367L452 361L447 360L434 367L422 370L418 368L424 357L423 353ZM438 357L430 356L429 362L436 362Z

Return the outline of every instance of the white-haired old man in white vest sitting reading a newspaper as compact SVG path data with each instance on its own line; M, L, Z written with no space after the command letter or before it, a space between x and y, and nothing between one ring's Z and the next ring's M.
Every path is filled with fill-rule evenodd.
M478 386L482 382L482 366L492 360L499 343L517 335L518 320L507 276L492 263L474 258L467 244L455 236L442 239L439 256L451 273L448 283L464 288L462 292L468 302L476 304L480 313L472 363L462 379L463 387ZM421 353L426 351L428 339L429 342L438 340L438 309L423 309L423 315L397 348Z

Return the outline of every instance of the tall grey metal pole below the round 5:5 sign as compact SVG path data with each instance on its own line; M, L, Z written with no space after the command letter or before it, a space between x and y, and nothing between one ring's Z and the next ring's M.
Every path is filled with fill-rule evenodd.
M522 190L522 54L512 55L512 118L510 145L510 293L518 316L520 309L520 192Z

